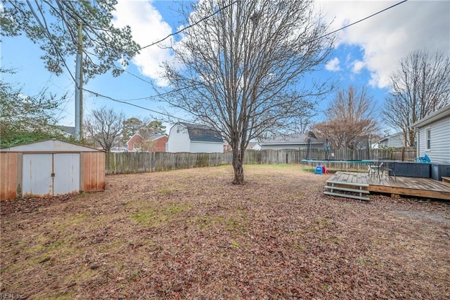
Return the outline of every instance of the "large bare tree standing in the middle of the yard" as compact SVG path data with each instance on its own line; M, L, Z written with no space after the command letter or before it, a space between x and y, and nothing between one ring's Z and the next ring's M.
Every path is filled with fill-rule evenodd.
M326 84L302 81L333 44L333 37L323 37L327 26L313 5L205 0L186 15L195 26L172 47L176 62L165 64L174 91L165 100L224 134L233 152L233 183L244 183L243 157L252 138L293 128L328 92ZM224 9L214 14L218 8Z

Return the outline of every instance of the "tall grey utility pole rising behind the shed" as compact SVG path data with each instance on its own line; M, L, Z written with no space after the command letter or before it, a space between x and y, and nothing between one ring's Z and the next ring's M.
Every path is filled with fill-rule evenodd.
M75 70L75 139L80 141L83 137L83 25L78 25L78 53Z

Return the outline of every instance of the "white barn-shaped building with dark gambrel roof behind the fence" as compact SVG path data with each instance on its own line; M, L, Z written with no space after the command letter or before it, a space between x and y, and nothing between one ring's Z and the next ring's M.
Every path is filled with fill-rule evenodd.
M167 152L224 152L221 133L210 127L179 122L169 131Z

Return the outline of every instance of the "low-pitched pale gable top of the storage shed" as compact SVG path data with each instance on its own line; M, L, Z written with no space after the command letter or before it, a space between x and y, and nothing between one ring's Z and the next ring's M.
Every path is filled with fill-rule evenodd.
M52 139L3 148L0 152L103 152L103 150Z

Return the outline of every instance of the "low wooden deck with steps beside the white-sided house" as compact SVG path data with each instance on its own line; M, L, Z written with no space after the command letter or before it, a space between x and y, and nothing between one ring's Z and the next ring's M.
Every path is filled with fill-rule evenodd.
M339 171L328 178L326 188L331 189L330 185L338 185L344 188L358 187L368 190L369 193L388 193L392 195L450 200L450 183L435 181L430 178L397 176L396 179L394 180L394 176L391 176L389 178L381 178L379 181L378 177L369 177L366 173ZM328 193L328 195L330 194ZM343 195L342 197L348 197L348 195Z

